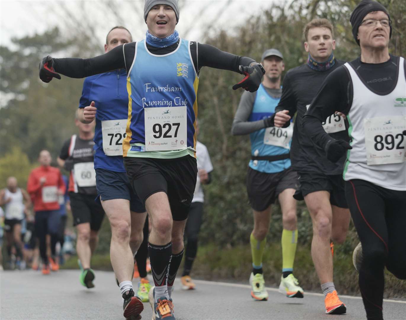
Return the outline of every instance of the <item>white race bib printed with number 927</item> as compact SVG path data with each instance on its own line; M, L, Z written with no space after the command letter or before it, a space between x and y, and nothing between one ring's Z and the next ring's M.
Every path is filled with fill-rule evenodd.
M145 150L187 148L186 106L144 108Z

